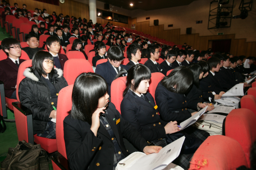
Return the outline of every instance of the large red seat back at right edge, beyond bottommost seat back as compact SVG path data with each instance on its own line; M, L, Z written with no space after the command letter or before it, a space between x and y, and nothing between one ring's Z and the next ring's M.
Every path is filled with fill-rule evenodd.
M232 110L226 117L225 135L239 142L250 167L250 148L256 139L256 116L247 108Z

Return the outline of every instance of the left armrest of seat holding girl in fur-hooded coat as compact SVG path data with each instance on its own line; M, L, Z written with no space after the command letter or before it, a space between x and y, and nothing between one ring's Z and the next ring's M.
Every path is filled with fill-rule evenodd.
M34 144L34 133L33 133L33 116L31 110L28 107L21 105L20 102L12 102L13 111L16 113L21 112L21 114L26 116L27 126L28 126L28 143ZM17 124L17 121L16 121Z

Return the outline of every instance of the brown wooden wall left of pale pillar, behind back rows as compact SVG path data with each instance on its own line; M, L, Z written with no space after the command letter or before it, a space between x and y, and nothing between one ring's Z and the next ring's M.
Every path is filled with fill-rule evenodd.
M76 1L66 0L65 3L60 3L60 6L55 6L53 4L33 1L33 0L10 0L11 6L13 3L18 3L19 7L22 8L22 4L26 4L28 10L35 10L35 8L39 8L43 10L45 8L47 13L50 15L53 11L58 14L63 13L64 16L69 15L75 16L77 18L86 18L89 21L89 5L85 3L80 3Z

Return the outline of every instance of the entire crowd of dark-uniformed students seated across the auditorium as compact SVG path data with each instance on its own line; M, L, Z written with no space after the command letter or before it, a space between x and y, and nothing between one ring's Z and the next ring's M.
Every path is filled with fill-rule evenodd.
M236 84L243 83L244 88L248 88L250 84L244 79L256 70L253 56L246 58L213 53L211 49L198 51L186 44L179 49L176 45L141 40L139 36L127 44L128 38L133 37L126 31L115 30L110 23L105 27L96 23L93 29L92 20L87 22L85 18L57 16L55 12L49 15L47 10L38 8L31 14L25 4L22 7L20 9L15 3L15 17L28 17L35 25L26 35L26 48L22 48L16 39L2 41L1 47L7 58L0 61L0 80L4 82L6 97L16 99L17 73L19 65L24 62L20 59L21 50L24 50L32 60L32 66L24 71L25 78L17 90L21 104L33 113L34 134L56 138L56 123L51 120L56 119L58 93L68 86L63 77L68 58L60 53L61 47L65 52L80 51L87 60L85 46L94 45L91 51L95 51L92 59L95 73L81 73L76 78L72 110L63 122L71 169L94 169L103 159L106 166L109 162L106 169L115 168L129 155L122 137L141 152L150 154L158 153L181 136L186 136L185 142L173 163L187 169L196 149L209 133L193 126L180 131L178 124L204 107L208 106L207 111L213 110L212 102ZM12 15L10 10L7 6L2 17ZM38 17L45 21L39 21ZM48 30L45 29L46 24ZM39 37L43 34L49 37L44 46L39 47ZM71 37L77 39L67 51ZM108 50L106 45L110 47ZM128 46L126 54L129 59L126 65L122 64L125 46ZM141 58L148 59L140 64ZM161 64L158 63L159 58L164 60ZM107 59L107 62L96 65L100 59ZM245 62L249 68L244 67ZM155 96L152 96L147 91L152 73L156 72L164 77L157 85ZM120 113L111 103L111 84L122 76L127 76L127 82ZM118 122L112 124L111 120ZM109 145L113 147L109 148ZM101 152L92 152L93 146L102 148Z

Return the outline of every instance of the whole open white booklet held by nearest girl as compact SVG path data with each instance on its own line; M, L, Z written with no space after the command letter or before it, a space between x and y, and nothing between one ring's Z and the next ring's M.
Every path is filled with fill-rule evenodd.
M185 136L173 141L158 153L146 155L144 153L132 153L118 162L116 170L162 170L174 159L179 157ZM135 163L133 163L136 161Z

